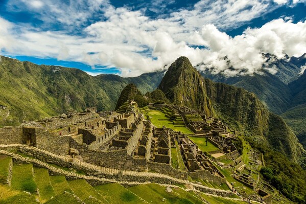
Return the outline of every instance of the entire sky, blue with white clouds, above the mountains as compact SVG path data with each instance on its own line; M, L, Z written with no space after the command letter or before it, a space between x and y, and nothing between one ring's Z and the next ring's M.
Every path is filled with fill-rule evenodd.
M218 73L228 56L234 70L225 73L252 74L261 53L306 52L305 20L305 0L0 0L0 54L122 76L182 55Z

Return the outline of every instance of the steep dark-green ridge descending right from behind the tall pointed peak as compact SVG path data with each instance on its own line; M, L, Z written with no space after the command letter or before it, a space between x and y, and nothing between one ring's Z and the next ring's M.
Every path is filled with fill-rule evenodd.
M243 88L204 79L215 111L225 121L250 133L252 140L297 161L303 149L283 118L270 112L255 94Z

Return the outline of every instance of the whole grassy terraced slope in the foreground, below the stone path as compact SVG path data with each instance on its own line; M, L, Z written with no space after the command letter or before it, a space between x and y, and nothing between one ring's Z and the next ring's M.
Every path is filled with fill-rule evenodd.
M22 153L0 150L0 203L208 203L206 199L211 203L220 200L224 203L243 203L237 198L188 190L184 185L123 186L119 183L106 183L92 186L88 179L59 175L63 172L61 168L58 167L55 173L56 169L36 167L37 164L31 163L32 160L34 158ZM207 183L207 186L222 191L221 187L213 184Z

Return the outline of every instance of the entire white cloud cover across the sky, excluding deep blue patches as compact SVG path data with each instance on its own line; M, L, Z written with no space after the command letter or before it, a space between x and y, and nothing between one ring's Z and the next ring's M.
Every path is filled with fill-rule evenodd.
M11 4L14 1L17 0ZM269 1L200 1L192 10L180 10L159 19L150 19L140 10L114 8L103 0L69 4L48 1L40 5L45 13L53 12L51 17L41 17L46 24L56 19L67 27L80 26L91 13L101 10L105 19L80 27L82 35L74 35L66 30L22 27L0 18L0 49L14 55L84 62L93 69L117 67L122 76L161 70L179 56L188 57L199 70L209 69L215 74L253 74L260 72L265 62L262 53L282 58L284 53L300 56L306 52L305 22L294 24L290 19L277 19L261 28L248 28L233 38L220 31L241 26L277 8L271 8ZM22 2L31 6L28 1ZM39 3L35 4L38 8ZM274 68L267 69L275 74Z

